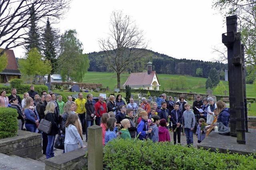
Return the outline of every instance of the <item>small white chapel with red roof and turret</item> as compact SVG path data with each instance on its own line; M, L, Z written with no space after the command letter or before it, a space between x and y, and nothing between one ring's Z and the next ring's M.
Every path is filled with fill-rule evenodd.
M132 89L159 90L156 71L152 70L152 63L148 62L148 72L133 72L130 74L123 87L129 85Z

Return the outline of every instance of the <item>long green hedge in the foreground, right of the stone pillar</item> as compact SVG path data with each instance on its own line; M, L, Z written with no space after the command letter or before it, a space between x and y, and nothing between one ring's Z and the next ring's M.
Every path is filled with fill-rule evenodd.
M253 156L224 154L170 143L116 139L104 147L104 167L111 170L256 169Z

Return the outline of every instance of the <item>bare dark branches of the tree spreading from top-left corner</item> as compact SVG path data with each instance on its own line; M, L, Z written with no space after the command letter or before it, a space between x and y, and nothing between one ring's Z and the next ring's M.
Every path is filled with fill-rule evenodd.
M32 20L37 21L37 29L43 33L44 24L39 23L47 18L56 21L66 13L69 4L70 0L0 0L0 47L7 50L26 44Z

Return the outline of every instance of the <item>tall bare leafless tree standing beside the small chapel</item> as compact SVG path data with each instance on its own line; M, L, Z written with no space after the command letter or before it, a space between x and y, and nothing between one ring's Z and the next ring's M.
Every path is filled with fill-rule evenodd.
M99 44L107 55L106 63L116 72L117 88L120 88L120 74L145 55L146 43L143 31L122 11L112 12L108 35Z

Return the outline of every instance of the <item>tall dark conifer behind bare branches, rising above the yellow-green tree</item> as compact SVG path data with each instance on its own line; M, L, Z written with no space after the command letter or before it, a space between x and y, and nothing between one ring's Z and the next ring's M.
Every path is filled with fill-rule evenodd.
M30 18L31 18L31 22L30 22L30 29L28 32L28 39L27 39L28 45L25 46L25 48L27 49L27 53L33 48L37 48L38 51L40 51L39 34L36 29L37 19L36 19L34 4L32 4L30 8Z

